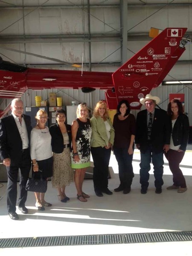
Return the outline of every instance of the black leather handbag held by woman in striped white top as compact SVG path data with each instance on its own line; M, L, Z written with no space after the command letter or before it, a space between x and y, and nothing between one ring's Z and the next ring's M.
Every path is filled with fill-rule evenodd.
M43 178L42 174L40 178L35 178L33 172L32 177L27 180L25 189L27 191L45 193L47 191L47 180Z

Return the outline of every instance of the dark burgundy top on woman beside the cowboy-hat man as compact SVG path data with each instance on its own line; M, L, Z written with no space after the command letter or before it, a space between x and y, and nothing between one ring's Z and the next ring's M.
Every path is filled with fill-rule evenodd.
M136 123L133 114L129 114L124 120L119 120L118 114L113 118L115 129L114 148L128 148L131 142L131 135L135 135Z

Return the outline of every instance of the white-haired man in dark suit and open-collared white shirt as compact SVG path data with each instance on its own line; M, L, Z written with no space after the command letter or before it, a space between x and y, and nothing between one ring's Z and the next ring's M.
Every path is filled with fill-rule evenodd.
M6 166L7 182L7 209L11 219L17 220L17 176L20 169L20 193L18 209L26 214L25 207L27 191L26 182L31 169L30 157L30 116L23 115L23 102L20 99L13 99L11 104L12 114L0 119L0 157Z

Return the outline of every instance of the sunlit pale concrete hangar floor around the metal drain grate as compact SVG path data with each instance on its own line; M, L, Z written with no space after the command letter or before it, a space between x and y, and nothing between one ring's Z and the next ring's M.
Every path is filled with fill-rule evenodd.
M35 197L28 193L26 207L29 214L23 215L19 211L20 219L12 221L6 210L6 183L0 187L0 238L39 237L39 236L76 236L93 234L120 233L149 233L164 231L192 230L192 151L191 145L181 163L181 169L186 177L188 190L179 194L168 191L166 187L172 185L172 174L165 159L164 185L162 194L155 194L153 170L150 171L150 185L146 195L140 194L139 163L140 152L134 152L135 177L128 195L113 192L113 195L96 197L93 190L93 180L84 180L84 192L90 195L86 203L76 198L76 189L72 183L66 189L70 201L61 203L57 199L57 192L48 182L46 200L52 203L44 212L35 208ZM111 154L109 189L119 185L118 166ZM33 248L0 248L0 255L11 253L79 253L80 255L103 254L104 250L111 255L117 255L122 250L126 254L134 255L167 255L171 250L177 254L191 255L192 241L141 243L141 244L104 244L80 245L63 247L33 247Z

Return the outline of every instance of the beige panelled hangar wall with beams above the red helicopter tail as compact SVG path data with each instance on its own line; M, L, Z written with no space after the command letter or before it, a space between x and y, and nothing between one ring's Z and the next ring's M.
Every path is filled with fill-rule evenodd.
M113 72L151 40L151 27L192 35L191 12L191 0L0 1L0 54L26 67ZM178 62L190 67L186 52Z

